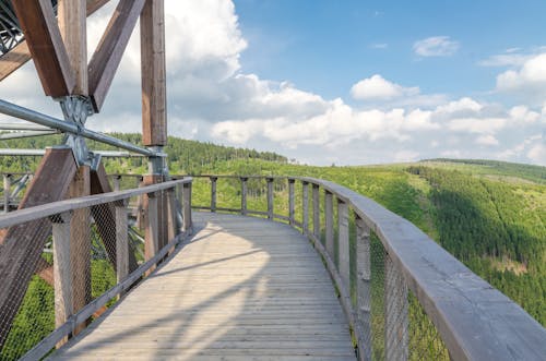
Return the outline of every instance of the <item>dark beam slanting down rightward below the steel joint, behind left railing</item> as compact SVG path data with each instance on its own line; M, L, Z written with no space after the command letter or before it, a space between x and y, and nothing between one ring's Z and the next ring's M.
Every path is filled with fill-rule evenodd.
M111 192L110 183L106 176L104 165L100 164L97 170L91 172L91 194L102 194ZM104 248L108 254L108 260L114 268L117 267L116 255L116 209L112 204L100 204L91 207L91 213L95 219L98 233L103 240ZM129 270L136 269L136 258L133 252L129 252Z

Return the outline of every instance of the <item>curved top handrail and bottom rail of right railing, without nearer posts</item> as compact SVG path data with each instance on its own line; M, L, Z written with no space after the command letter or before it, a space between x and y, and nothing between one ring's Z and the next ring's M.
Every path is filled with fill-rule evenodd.
M288 182L300 181L305 186L322 188L327 194L335 196L348 205L369 229L380 239L396 272L401 273L405 285L413 291L454 360L543 360L546 354L546 329L531 317L521 306L475 275L465 265L448 253L420 229L401 216L385 209L375 201L334 182L307 177L274 176L192 176L210 178L239 178L246 181L257 179L284 179ZM211 182L211 183L212 183ZM306 185L307 184L307 185ZM294 190L289 197L293 198ZM304 188L304 193L308 192ZM214 193L215 196L215 193ZM324 256L327 266L341 293L341 301L356 334L363 333L357 311L353 309L348 285L335 267L330 255L317 234L307 229L309 213L308 194L304 195L304 216L301 224L293 219L290 224L304 228L319 252ZM215 201L214 201L215 203ZM290 207L294 207L294 200ZM247 215L268 213L256 209L215 208L213 210L241 212ZM200 209L212 207L200 206ZM268 208L272 208L271 205ZM307 212L307 213L306 213ZM271 215L270 215L271 216ZM287 217L273 214L286 220ZM301 227L304 225L304 227ZM361 306L361 305L358 305ZM361 340L361 335L357 335ZM360 359L363 346L359 346Z

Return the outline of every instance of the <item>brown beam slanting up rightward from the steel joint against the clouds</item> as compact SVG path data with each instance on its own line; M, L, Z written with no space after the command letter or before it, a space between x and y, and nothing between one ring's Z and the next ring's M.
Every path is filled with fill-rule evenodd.
M90 96L100 111L145 0L120 0L88 64Z

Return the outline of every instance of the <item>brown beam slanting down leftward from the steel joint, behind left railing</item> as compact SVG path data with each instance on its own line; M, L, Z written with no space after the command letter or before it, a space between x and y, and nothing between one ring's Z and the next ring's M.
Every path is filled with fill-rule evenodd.
M47 149L19 208L64 198L76 167L72 149ZM12 226L0 239L0 349L50 233L49 219L41 218Z

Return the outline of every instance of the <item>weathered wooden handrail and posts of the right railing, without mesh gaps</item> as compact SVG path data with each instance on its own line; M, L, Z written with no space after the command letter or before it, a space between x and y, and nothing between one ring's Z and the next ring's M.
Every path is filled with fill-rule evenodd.
M458 261L454 256L443 250L432 239L408 220L382 207L375 201L358 194L345 186L327 180L308 177L275 177L275 176L221 176L201 175L194 178L215 179L265 179L271 180L297 180L304 184L308 192L309 184L312 185L313 203L313 229L307 229L309 219L309 207L307 196L302 196L304 216L301 222L292 222L297 226L313 241L317 250L323 256L327 267L336 284L341 294L341 302L355 336L359 340L359 358L367 360L370 358L369 348L366 349L363 340L369 342L369 309L368 304L358 304L363 310L353 309L349 297L348 267L335 266L333 260L333 219L330 197L335 197L340 207L340 224L346 221L347 207L351 208L357 224L357 243L367 239L368 249L364 249L361 254L367 254L369 258L369 232L373 231L381 241L385 256L385 273L389 276L391 288L410 289L417 298L420 306L439 332L441 339L449 350L453 360L542 360L546 354L546 329L530 316L520 305L511 301L507 296L495 289L484 279L475 275L471 269ZM318 206L321 188L325 193L327 212L327 246L320 242L318 220L320 207ZM268 212L258 209L247 209L246 202L242 202L241 209L216 207L216 212L240 212L244 215L268 215L273 219L290 220L290 217L273 214L271 217L271 194L268 196ZM292 205L290 205L292 207ZM200 209L209 207L199 206ZM320 220L319 220L320 221ZM306 226L304 226L306 225ZM340 226L344 227L344 226ZM346 229L342 229L342 238L347 238ZM346 253L345 244L342 252ZM360 245L358 245L360 246ZM330 250L330 248L332 248ZM360 251L358 251L360 252ZM348 255L343 254L346 262ZM363 268L357 265L358 279L360 284L369 284L369 266ZM396 292L394 292L396 293ZM407 297L403 290L400 294L394 294L396 299L387 310L400 313L396 323L389 325L385 321L385 333L400 338L402 350L397 353L390 353L387 350L388 359L407 358ZM369 294L358 294L358 300L365 300ZM405 302L405 304L404 304ZM363 311L365 314L361 315ZM367 314L366 314L367 312ZM368 320L363 323L363 318ZM405 320L405 321L404 321ZM402 324L401 324L402 323ZM405 323L405 325L404 325ZM404 339L405 338L405 339ZM405 345L404 345L405 344ZM403 348L406 348L404 350Z

